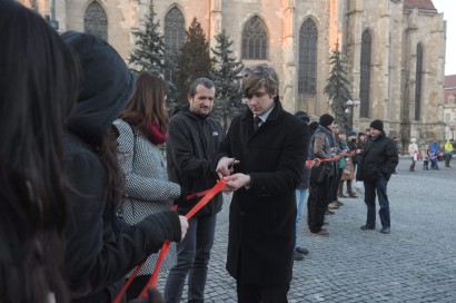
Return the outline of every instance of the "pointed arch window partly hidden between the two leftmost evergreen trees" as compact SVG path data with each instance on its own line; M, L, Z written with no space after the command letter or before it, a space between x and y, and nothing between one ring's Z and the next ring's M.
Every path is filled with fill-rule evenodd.
M165 52L167 55L165 79L172 82L176 57L184 45L186 28L182 12L174 7L165 16Z

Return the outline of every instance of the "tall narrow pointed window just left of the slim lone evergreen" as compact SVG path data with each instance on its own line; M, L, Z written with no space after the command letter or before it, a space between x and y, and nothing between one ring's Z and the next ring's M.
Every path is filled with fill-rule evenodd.
M317 26L310 18L299 30L298 92L316 94L317 86Z

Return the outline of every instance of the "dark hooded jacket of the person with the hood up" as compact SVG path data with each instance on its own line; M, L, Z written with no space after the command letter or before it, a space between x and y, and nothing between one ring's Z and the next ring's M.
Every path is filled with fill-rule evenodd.
M93 36L69 32L63 39L76 50L82 90L65 139L68 224L65 271L72 302L112 302L125 275L166 240L180 241L175 212L156 214L120 232L116 206L107 199L108 176L99 146L123 109L133 79L120 56Z

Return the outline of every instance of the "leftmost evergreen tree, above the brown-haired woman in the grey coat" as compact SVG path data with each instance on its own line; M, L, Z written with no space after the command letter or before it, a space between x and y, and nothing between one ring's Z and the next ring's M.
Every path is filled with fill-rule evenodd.
M165 37L159 33L160 21L155 21L156 12L153 3L150 1L149 14L145 23L145 30L133 31L136 37L136 48L130 53L129 63L133 65L133 71L148 71L150 74L163 76L166 68L174 66L166 65ZM168 82L167 107L171 110L176 106L177 88Z

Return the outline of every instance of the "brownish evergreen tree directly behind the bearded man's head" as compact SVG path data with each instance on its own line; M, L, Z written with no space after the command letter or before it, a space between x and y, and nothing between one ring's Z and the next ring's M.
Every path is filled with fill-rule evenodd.
M189 29L186 30L186 38L177 58L176 87L182 99L195 79L209 77L211 67L209 42L206 40L201 25L197 18L194 18Z

